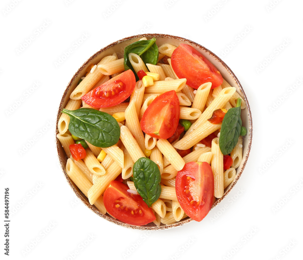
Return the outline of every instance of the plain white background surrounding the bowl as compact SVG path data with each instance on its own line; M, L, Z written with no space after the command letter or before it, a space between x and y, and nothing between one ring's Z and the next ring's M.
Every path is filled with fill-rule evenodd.
M7 187L11 220L1 259L302 259L302 8L295 0L1 1L0 220ZM250 157L228 196L201 222L155 232L116 226L78 202L55 147L74 73L138 33L181 36L217 54L253 116Z

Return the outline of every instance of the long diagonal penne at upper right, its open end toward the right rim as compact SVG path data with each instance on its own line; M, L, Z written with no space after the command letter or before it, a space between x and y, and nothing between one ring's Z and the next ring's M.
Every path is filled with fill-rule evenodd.
M236 88L224 88L211 102L211 104L204 110L199 118L191 125L185 135L190 134L193 130L201 126L207 119L211 118L212 113L219 108L223 108L230 97L235 93ZM201 139L200 139L201 140Z

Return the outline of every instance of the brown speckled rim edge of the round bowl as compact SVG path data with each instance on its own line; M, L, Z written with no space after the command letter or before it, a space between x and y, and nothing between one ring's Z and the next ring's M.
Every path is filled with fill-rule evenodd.
M207 52L209 55L211 55L213 58L215 58L218 62L220 62L223 67L225 67L225 69L227 70L227 72L231 75L231 77L235 80L236 84L238 85L239 89L241 90L241 94L243 95L243 98L245 99L245 103L246 103L246 109L247 109L247 114L248 114L248 136L245 137L245 138L248 138L248 148L247 148L247 151L246 151L246 154L245 154L245 157L242 158L242 166L241 168L239 169L239 171L237 172L237 175L236 175L236 178L233 180L233 182L231 183L231 185L229 185L228 189L224 192L223 196L221 198L218 198L216 200L216 202L212 205L211 209L215 208L215 206L217 206L227 195L228 193L231 191L231 189L235 186L235 184L237 183L238 179L240 178L242 172L244 171L244 168L246 166L246 163L247 163L247 160L248 160L248 157L249 157L249 154L250 154L250 151L251 151L251 143L252 143L252 135L253 135L253 127L252 127L252 116L251 116L251 109L250 109L250 105L249 105L249 102L248 102L248 99L247 99L247 96L245 94L245 91L243 90L242 88L242 85L241 83L239 82L237 76L234 74L234 72L232 72L232 70L228 67L228 65L223 61L221 60L221 58L219 58L215 53L211 52L208 48L205 48L203 45L201 44L198 44L194 41L191 41L191 40L188 40L186 38L183 38L183 37L179 37L179 36L175 36L175 35L168 35L168 34L159 34L159 33L147 33L147 34L138 34L138 35L132 35L132 36L128 36L128 37L125 37L125 38L122 38L120 40L117 40L115 42L112 42L110 44L108 44L107 46L101 48L98 52L96 52L95 54L93 54L90 58L88 58L83 64L82 66L78 69L78 71L73 75L72 79L70 80L70 82L68 83L67 87L65 88L65 91L62 95L62 98L61 98L61 102L59 104L59 107L58 107L58 113L57 113L57 119L56 119L56 133L55 133L55 138L56 138L56 146L57 146L57 156L58 156L58 159L59 159L59 162L60 162L60 165L61 165L61 168L62 168L62 171L65 175L65 178L66 178L66 181L68 182L68 185L72 188L72 190L74 191L74 193L76 194L76 196L89 208L91 209L94 213L96 213L97 215L101 216L102 218L106 219L107 221L109 222L112 222L112 223L115 223L119 226L123 226L123 227L126 227L126 228L131 228L131 229L139 229L139 230L164 230L164 229L170 229L170 228L174 228L174 227L177 227L177 226L180 226L180 225L185 225L191 221L194 221L193 219L187 217L185 218L184 220L181 220L179 222L176 222L176 223L173 223L173 224L170 224L170 225L161 225L161 226L148 226L148 225L145 225L145 226L135 226L135 225L129 225L129 224L126 224L126 223L123 223L123 222L120 222L110 216L108 216L107 214L106 215L103 215L101 212L98 211L98 209L95 208L94 205L90 205L86 200L86 196L79 190L79 188L73 184L72 180L69 178L69 176L67 175L66 171L65 171L65 166L64 166L64 163L62 161L62 156L60 155L60 142L58 141L58 138L57 138L57 134L58 134L58 121L59 121L59 118L60 118L60 115L61 115L61 111L62 111L62 106L63 106L63 103L65 102L65 98L66 98L66 95L68 93L68 90L71 88L72 86L72 83L75 81L75 78L82 72L83 68L85 68L86 65L88 65L88 63L94 59L95 57L97 57L99 54L101 54L102 52L104 52L105 50L119 44L119 43L122 43L122 42L125 42L125 41L128 41L128 40L132 40L132 39L136 39L136 38L143 38L143 37L146 37L146 38L152 38L152 37L155 37L157 39L158 38L170 38L170 39L176 39L178 41L182 41L184 43L188 43L192 46L195 46L196 48L198 49L203 49L205 52Z

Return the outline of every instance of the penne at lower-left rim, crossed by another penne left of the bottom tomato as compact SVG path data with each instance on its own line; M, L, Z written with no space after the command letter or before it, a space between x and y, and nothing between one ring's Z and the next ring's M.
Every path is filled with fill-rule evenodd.
M77 187L82 191L82 193L87 197L88 190L92 187L92 183L85 177L81 170L75 165L75 163L69 158L66 162L65 171L69 178L77 185ZM103 203L103 196L100 195L94 205L102 213L106 213L106 209Z

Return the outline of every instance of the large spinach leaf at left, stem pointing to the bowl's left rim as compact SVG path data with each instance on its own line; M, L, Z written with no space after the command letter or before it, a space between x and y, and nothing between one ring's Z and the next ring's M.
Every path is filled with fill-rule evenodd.
M120 127L111 115L93 108L63 109L70 117L68 130L92 145L110 147L120 138Z

